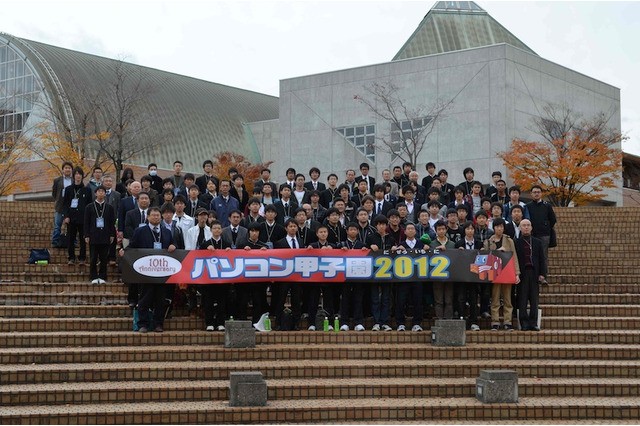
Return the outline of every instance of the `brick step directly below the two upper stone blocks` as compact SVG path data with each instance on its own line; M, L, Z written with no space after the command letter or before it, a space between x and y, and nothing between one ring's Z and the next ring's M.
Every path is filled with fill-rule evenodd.
M140 346L111 348L11 348L0 349L0 364L127 363L180 361L284 361L315 362L340 360L484 360L568 359L640 360L640 345L557 345L469 344L462 348L442 348L427 342L417 344L280 344L258 345L249 349L227 349L222 345Z

